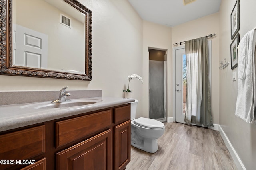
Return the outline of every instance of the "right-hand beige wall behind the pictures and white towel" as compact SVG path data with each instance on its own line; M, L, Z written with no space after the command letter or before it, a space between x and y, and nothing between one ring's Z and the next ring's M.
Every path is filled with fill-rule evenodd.
M220 7L220 60L230 61L230 14L236 0L222 0ZM256 1L240 0L240 39L256 27ZM220 70L220 126L232 143L247 170L255 169L256 125L235 116L237 81L232 81L230 66Z

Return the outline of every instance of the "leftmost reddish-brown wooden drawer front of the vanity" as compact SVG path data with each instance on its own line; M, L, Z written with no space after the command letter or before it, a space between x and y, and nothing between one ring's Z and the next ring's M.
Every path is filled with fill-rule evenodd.
M0 160L27 160L45 152L44 125L0 135ZM0 164L0 169L12 166Z

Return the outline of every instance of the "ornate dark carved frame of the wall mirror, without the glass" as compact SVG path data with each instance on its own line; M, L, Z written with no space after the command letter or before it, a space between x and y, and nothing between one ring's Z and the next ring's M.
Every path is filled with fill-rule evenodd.
M92 11L76 0L63 1L81 11L86 16L85 74L12 66L12 0L0 0L0 74L9 76L92 80Z

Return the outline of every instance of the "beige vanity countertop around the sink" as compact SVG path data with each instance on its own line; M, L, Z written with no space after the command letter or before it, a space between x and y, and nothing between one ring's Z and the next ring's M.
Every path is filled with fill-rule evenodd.
M47 106L51 101L25 103L25 104L10 104L0 106L0 131L15 129L69 117L72 115L79 115L90 111L114 107L129 102L134 102L132 98L114 98L114 97L93 97L93 98L80 98L72 99L70 102L82 102L84 100L96 101L94 104L84 106L72 106L63 108L40 108ZM66 102L67 103L67 102Z

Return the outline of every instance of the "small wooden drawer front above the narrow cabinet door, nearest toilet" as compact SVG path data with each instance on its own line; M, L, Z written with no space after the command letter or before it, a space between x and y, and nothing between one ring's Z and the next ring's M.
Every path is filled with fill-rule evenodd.
M130 105L122 106L114 109L114 123L130 120L131 108Z

